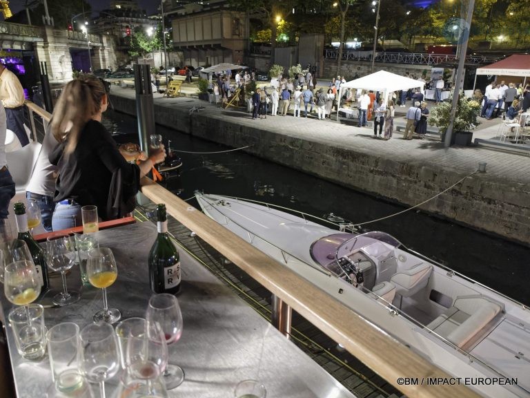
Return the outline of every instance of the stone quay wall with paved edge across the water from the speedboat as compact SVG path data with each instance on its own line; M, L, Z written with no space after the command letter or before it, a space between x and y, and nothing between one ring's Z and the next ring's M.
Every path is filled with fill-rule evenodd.
M134 91L112 88L117 111L136 115ZM190 108L204 106L190 113ZM417 205L423 211L530 245L530 161L527 156L474 147L444 149L440 142L373 140L369 129L313 118L269 116L251 120L190 98L155 98L158 124L315 176ZM355 205L355 204L352 204Z

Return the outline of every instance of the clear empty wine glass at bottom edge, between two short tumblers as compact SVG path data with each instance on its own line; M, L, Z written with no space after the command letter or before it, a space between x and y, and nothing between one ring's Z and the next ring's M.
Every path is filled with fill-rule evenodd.
M79 334L78 365L90 383L99 383L101 398L105 398L105 381L119 370L116 334L104 322L90 323Z

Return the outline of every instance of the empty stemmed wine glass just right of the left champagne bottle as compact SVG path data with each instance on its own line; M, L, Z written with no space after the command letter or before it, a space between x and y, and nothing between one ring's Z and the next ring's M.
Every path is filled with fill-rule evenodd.
M61 272L63 280L63 291L57 293L52 298L52 303L56 305L70 305L79 301L78 292L66 287L66 271L72 268L75 263L75 244L68 234L53 234L46 239L46 261L48 267L54 271Z

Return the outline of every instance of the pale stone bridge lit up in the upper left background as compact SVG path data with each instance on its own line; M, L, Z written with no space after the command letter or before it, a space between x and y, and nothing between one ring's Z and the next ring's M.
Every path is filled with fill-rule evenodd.
M92 70L115 64L114 47L106 35L72 32L53 26L2 21L0 48L0 57L19 58L26 69L46 61L51 84L68 82L75 68L88 71L90 64Z

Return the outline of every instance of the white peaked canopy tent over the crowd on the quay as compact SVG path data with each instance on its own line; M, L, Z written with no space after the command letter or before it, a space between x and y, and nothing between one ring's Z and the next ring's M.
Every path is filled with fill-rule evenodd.
M371 75L366 75L360 77L359 79L351 80L340 85L339 88L339 106L337 106L337 120L339 118L340 111L340 99L342 98L342 90L344 88L357 88L364 90L373 90L380 91L383 93L384 102L386 103L386 97L389 93L393 91L400 90L409 90L409 88L421 88L425 82L420 82L420 80L410 79L409 77L404 77L400 75L395 75L394 73L386 72L386 70L379 70L378 72L372 73Z

